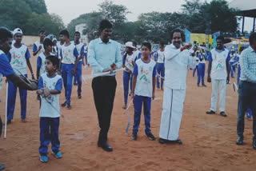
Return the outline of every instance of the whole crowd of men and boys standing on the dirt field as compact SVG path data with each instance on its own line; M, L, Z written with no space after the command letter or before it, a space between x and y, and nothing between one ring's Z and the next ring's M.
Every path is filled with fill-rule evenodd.
M216 48L210 51L206 51L196 42L194 45L184 44L183 32L180 29L172 30L170 45L165 46L161 42L159 50L152 50L150 42L143 42L140 49L136 42L126 42L126 49L121 52L119 43L110 39L112 31L112 24L108 20L102 20L99 23L99 38L92 40L87 48L80 42L79 32L74 33L74 41L70 42L69 32L62 30L58 43L56 38L47 38L46 32L40 30L40 39L33 47L33 55L38 56L36 80L30 64L30 52L22 44L22 30L17 28L11 33L10 30L0 28L1 85L2 77L8 78L6 123L10 125L14 117L17 88L21 98L22 122L26 122L27 90L37 90L40 101L40 161L49 160L47 153L50 142L54 157L62 157L58 135L61 117L59 95L63 85L66 101L61 106L66 109L72 109L70 97L73 85L78 85L78 99L82 98L82 66L85 65L92 67L92 75L98 75L92 80L92 90L100 127L98 147L105 151L113 151L108 144L107 135L117 87L115 70L123 68L122 108L128 109L129 96L134 103L133 140L138 140L142 105L146 137L156 140L150 129L150 111L151 100L154 100L157 88L163 90L158 141L161 144L182 144L179 129L186 97L186 76L188 70L194 70L193 77L197 71L198 87L206 86L207 63L206 80L212 84L212 95L210 110L206 114L217 113L219 93L219 113L222 117L227 116L226 84L230 83L230 74L234 78L238 68L236 143L243 144L244 117L248 113L248 117L254 117L253 147L256 149L256 33L250 34L250 46L246 50L238 50L239 53L234 49L227 50L222 36L218 36ZM27 78L27 68L30 70L31 80ZM3 168L4 165L0 165L0 169Z

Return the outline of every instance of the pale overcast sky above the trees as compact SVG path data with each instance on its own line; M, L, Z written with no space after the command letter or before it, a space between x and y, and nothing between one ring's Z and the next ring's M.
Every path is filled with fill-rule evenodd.
M80 14L98 11L98 4L103 0L45 0L45 2L48 12L60 15L65 25L67 25L72 19L78 18ZM134 22L138 15L142 13L180 11L185 0L113 0L113 2L126 6L131 12L127 14L128 21ZM245 30L252 30L253 19L246 18L245 24Z

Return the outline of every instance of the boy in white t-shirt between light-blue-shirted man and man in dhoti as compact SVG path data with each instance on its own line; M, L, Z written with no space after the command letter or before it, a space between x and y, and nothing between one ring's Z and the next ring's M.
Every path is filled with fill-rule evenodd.
M141 121L142 104L145 118L145 133L150 140L155 140L150 129L151 98L154 100L156 82L156 63L150 59L151 45L149 42L142 44L142 58L135 62L133 80L134 98L134 129L133 139L137 140L138 126Z

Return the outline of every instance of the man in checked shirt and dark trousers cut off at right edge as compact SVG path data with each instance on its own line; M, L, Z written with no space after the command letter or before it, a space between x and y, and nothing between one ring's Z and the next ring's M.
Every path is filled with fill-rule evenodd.
M256 149L256 33L250 34L250 46L242 51L239 58L241 76L239 81L238 97L238 125L237 145L243 144L243 132L245 127L245 113L249 107L252 111L253 122L253 147Z

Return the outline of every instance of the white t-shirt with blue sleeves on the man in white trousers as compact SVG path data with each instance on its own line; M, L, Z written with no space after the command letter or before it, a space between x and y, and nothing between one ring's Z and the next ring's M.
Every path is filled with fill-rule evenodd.
M210 50L209 62L212 63L210 78L218 80L226 80L226 60L229 57L229 50ZM228 61L230 57L228 58Z

